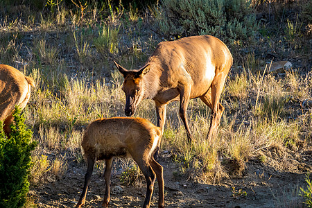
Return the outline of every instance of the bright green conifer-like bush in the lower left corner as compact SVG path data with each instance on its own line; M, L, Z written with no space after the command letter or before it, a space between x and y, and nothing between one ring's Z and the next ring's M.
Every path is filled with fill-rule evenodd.
M0 207L23 207L29 190L28 174L31 167L31 151L35 141L32 132L26 129L24 117L15 107L12 132L7 138L0 121Z

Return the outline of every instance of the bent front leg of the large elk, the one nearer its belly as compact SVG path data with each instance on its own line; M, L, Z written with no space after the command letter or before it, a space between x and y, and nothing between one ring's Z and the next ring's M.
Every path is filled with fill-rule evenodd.
M186 85L180 89L180 117L184 123L185 129L187 130L187 140L191 142L193 137L191 130L189 129L189 122L187 121L187 105L189 105L189 96L191 94L191 85Z

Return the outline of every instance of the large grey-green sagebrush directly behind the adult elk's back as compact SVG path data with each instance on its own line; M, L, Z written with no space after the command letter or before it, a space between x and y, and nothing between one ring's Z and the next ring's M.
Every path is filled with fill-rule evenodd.
M208 34L232 44L253 40L258 28L245 0L163 0L156 19L168 37Z

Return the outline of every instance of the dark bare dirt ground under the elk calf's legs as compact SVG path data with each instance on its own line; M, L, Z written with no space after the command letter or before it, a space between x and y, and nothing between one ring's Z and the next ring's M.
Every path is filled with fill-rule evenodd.
M289 151L269 158L266 163L250 159L242 177L223 179L218 184L202 184L190 180L176 180L173 171L178 164L172 162L170 153L162 152L159 163L164 166L166 207L302 207L300 187L306 188L307 171L311 171L312 148ZM270 149L266 155L276 154ZM276 155L275 155L276 156ZM85 163L68 164L67 173L40 187L33 187L31 195L38 207L75 207L83 189ZM283 168L281 168L283 167ZM284 171L281 171L284 169ZM138 187L125 187L120 174L112 173L110 207L141 207L145 198L145 182ZM101 207L105 181L103 173L92 176L85 207ZM233 191L233 187L236 193ZM240 193L247 193L246 196ZM157 182L151 207L157 207Z

